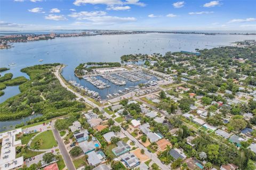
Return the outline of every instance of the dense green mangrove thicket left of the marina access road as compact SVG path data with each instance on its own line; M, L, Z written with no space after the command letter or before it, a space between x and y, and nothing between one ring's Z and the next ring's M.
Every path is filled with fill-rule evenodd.
M63 88L51 72L57 65L60 64L35 65L21 69L29 75L30 80L20 85L19 95L0 104L0 120L13 120L28 116L32 112L43 114L31 120L31 123L35 123L83 111L85 104L74 101L76 96Z

